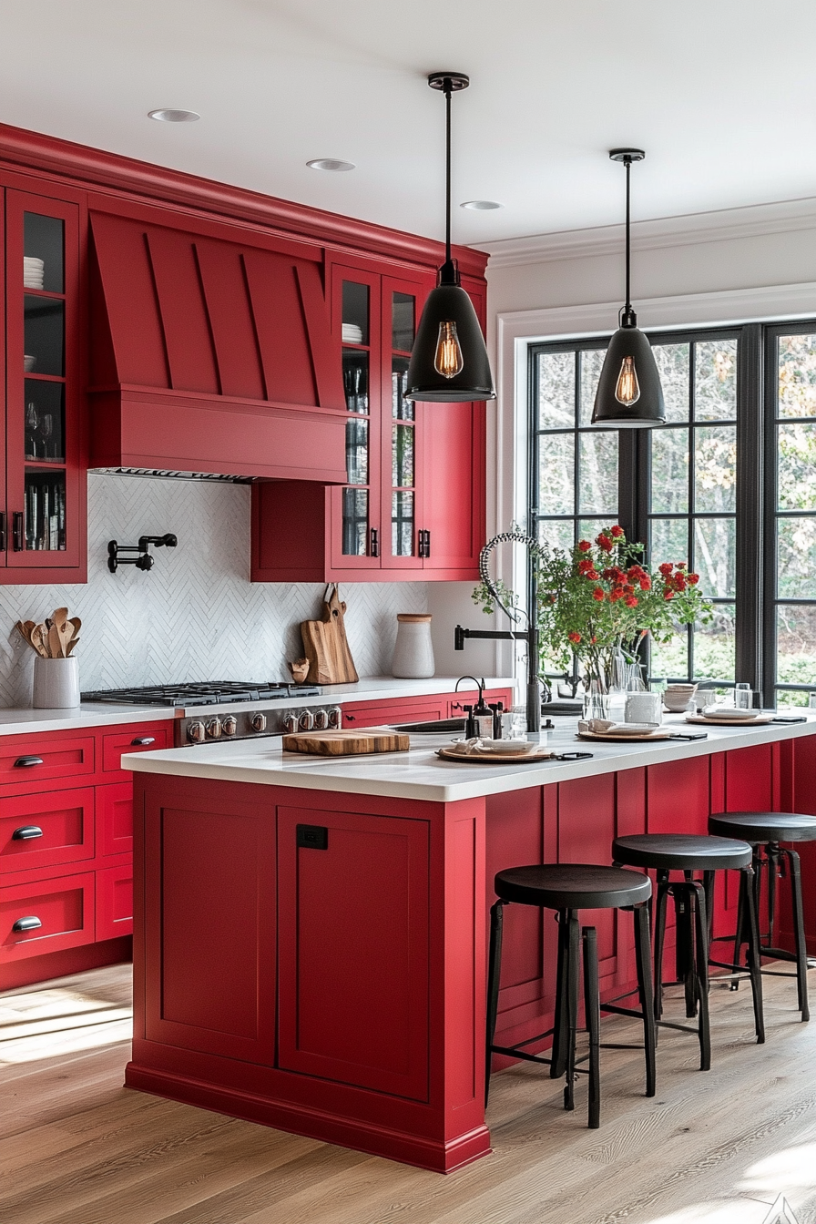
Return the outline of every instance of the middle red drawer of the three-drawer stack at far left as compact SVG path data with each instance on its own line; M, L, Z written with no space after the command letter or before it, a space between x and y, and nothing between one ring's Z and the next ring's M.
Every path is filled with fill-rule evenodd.
M0 874L93 858L93 788L21 794L0 804Z

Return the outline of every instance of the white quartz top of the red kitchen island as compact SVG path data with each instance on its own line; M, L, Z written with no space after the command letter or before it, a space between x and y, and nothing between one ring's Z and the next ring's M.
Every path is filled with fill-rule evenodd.
M575 737L576 721L559 718L548 745L554 752L591 752L590 760L532 761L527 764L470 764L440 760L436 749L450 742L445 734L411 736L407 753L371 756L305 756L284 753L279 741L250 741L232 744L203 744L160 753L122 756L122 767L144 774L176 777L217 778L225 782L254 782L290 786L306 791L340 791L399 799L451 803L508 791L521 791L575 777L610 774L661 761L686 760L708 753L749 748L755 744L812 736L816 715L806 722L772 722L752 727L701 727L689 725L683 715L667 715L664 725L677 731L707 731L706 739L662 739L652 743L582 742ZM816 742L814 744L816 749Z

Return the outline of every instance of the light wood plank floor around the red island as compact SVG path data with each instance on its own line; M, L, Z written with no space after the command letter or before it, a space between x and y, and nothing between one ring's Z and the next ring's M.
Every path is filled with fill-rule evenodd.
M122 1088L127 966L0 994L0 1222L762 1224L784 1195L816 1224L816 1020L765 983L767 1044L750 990L714 987L713 1070L662 1031L653 1100L640 1053L604 1051L599 1131L584 1077L565 1114L542 1070L495 1076L494 1152L447 1177Z

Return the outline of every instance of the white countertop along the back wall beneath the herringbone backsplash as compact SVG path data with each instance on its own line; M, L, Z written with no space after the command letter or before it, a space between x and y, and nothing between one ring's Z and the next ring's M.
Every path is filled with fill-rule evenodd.
M426 681L394 679L393 676L371 676L355 684L324 684L319 696L289 696L276 700L263 699L259 704L269 710L287 710L292 705L328 706L344 705L354 701L404 700L405 698L432 696L437 693L453 693L458 676L434 676ZM273 683L285 683L284 681ZM513 688L514 681L488 677L484 684L489 689ZM471 681L464 681L461 693L472 696L476 687ZM0 707L0 736L21 736L27 732L76 731L82 727L116 726L122 722L159 722L168 718L182 718L193 711L206 710L213 714L235 714L246 709L245 701L230 701L223 705L195 705L174 709L169 705L115 705L108 701L83 701L72 710L32 710L29 707ZM407 711L406 711L407 712Z

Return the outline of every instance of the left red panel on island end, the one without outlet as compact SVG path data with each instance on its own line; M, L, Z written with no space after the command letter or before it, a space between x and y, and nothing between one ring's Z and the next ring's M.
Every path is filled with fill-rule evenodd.
M272 1066L273 813L242 783L209 783L199 803L163 782L144 815L146 1037Z

